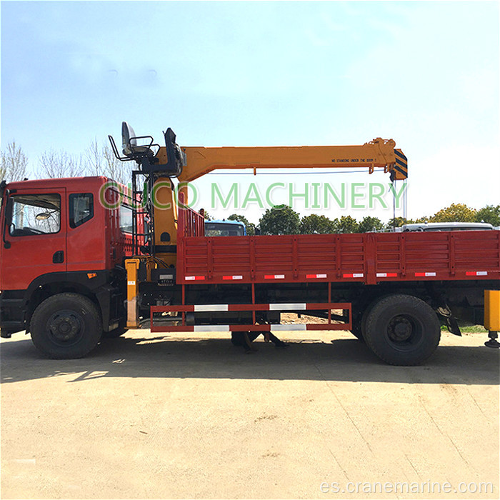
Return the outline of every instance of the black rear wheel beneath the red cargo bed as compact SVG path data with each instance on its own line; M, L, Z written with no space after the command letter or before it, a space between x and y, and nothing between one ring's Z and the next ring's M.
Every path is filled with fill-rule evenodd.
M441 339L441 328L429 304L411 295L394 294L371 307L364 338L382 361L414 366L434 353Z

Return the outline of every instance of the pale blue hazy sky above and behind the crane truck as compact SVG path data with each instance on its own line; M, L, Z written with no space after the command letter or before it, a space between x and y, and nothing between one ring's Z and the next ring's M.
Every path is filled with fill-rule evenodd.
M171 127L181 146L394 139L408 157L409 217L500 204L496 1L4 0L0 9L1 147L15 140L31 176L44 151L81 154L108 134L121 142L128 121L156 141ZM301 215L392 216L390 197L387 208L311 208L312 183L348 194L365 183L355 189L368 201L367 183L389 182L382 172L301 172L204 176L195 208L256 222L269 206L241 208L251 183L265 199L282 182L274 203L309 188L309 208L294 198ZM234 182L238 209L211 206L212 184L225 195Z

